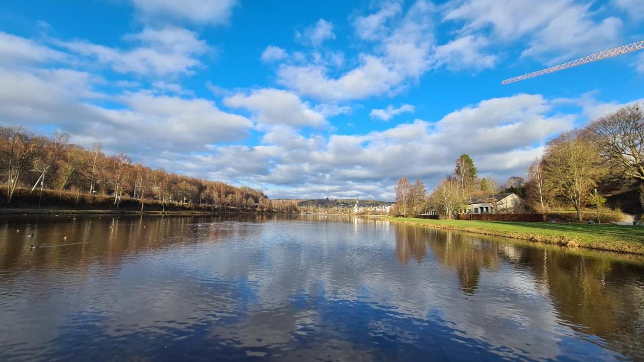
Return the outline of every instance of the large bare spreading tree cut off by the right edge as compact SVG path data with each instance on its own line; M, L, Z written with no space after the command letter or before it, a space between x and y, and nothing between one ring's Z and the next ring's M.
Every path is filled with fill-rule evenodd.
M644 209L644 104L623 106L592 122L584 135L614 171L639 183Z

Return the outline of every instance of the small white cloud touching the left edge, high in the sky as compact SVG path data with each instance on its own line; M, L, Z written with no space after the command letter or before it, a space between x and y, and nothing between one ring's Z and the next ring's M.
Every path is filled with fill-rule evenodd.
M66 55L16 35L0 32L0 65L24 66L29 63L62 61Z

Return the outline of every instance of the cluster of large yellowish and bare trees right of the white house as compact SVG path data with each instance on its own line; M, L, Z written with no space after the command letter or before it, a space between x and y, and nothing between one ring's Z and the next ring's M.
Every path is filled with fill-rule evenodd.
M528 170L533 209L572 205L578 220L587 205L601 206L605 190L637 189L644 209L644 108L623 106L551 140Z

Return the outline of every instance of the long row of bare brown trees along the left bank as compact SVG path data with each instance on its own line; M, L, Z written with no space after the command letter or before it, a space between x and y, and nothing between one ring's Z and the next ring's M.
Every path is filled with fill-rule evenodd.
M44 137L22 127L0 126L2 194L12 205L16 190L41 189L106 196L118 204L123 198L164 205L210 205L213 209L289 211L289 202L272 201L260 190L235 187L220 181L169 173L132 162L124 153L106 155L100 143L91 148L70 144L69 135L54 132Z

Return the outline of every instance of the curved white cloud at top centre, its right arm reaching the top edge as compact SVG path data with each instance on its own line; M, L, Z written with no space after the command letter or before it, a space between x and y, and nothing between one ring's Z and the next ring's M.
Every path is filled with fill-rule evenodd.
M358 65L352 70L339 72L337 77L330 75L338 73L329 68L334 64L317 61L313 52L314 61L308 64L281 64L278 83L301 95L324 100L364 99L396 93L406 86L406 81L417 79L430 69L430 52L435 41L431 33L434 12L431 3L418 0L400 19L391 19L390 26L379 23L377 33L381 39L374 52L360 53ZM396 12L387 17L393 14ZM357 20L356 26L361 23L360 19L363 18ZM295 54L294 59L304 61L306 57Z

